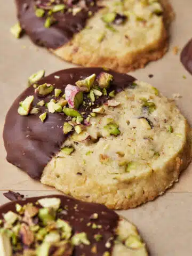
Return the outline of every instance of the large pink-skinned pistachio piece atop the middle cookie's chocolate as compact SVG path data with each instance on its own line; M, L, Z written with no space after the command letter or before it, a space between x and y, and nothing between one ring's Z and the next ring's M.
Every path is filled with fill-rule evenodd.
M83 92L75 85L68 84L65 89L65 97L70 108L78 109L83 103Z

